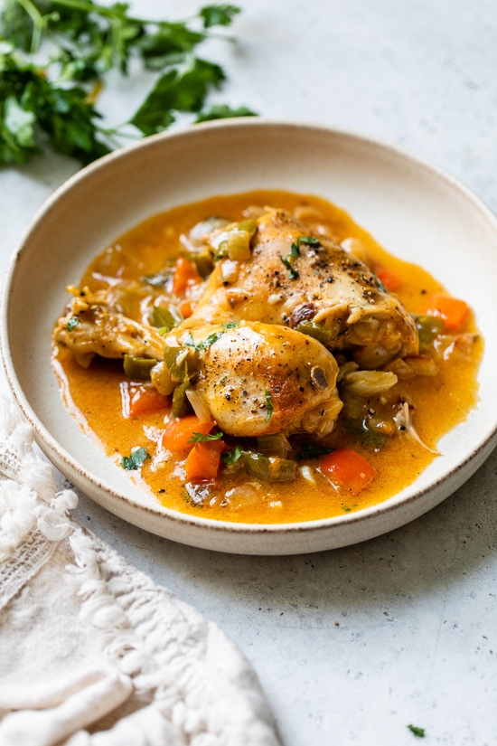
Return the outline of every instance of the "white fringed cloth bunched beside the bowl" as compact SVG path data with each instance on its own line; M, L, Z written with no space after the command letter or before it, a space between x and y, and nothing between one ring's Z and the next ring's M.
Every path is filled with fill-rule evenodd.
M0 408L1 746L277 746L238 647L71 519Z

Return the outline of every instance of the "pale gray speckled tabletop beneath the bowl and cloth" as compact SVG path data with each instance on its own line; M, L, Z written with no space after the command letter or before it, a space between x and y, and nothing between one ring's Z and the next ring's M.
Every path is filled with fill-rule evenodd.
M142 0L135 8L172 16L179 5ZM181 15L198 7L181 5ZM350 127L407 146L497 209L493 0L239 5L238 44L216 42L206 51L229 72L220 98L267 117ZM121 93L137 100L144 84L115 82L106 94L111 121L126 110ZM75 168L54 156L0 172L2 271L33 213ZM169 543L84 497L76 515L220 623L258 671L286 746L491 746L496 475L494 452L455 496L415 523L348 549L287 558ZM408 723L426 728L424 741Z

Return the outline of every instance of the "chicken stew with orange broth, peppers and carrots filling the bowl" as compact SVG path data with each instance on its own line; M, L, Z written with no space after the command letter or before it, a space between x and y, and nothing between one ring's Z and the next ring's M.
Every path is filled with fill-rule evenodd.
M53 334L67 406L182 512L270 524L376 504L477 401L464 300L315 196L174 208L69 291Z

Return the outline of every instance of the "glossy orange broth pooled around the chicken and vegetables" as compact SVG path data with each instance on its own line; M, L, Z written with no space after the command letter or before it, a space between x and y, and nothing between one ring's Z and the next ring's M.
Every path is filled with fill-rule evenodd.
M216 196L200 203L176 207L131 231L127 231L91 262L80 281L80 287L91 290L106 287L103 278L139 279L159 271L164 260L181 253L180 236L209 215L222 215L233 221L243 219L248 205L270 205L295 212L311 228L324 226L335 241L347 238L361 241L375 262L395 273L399 279L396 293L408 312L423 313L426 298L444 291L427 271L399 260L383 250L367 231L353 222L342 209L312 195L283 191L257 191L248 194ZM420 439L436 449L437 441L448 430L464 420L477 401L477 372L483 354L483 340L477 334L470 313L464 332L474 335L470 354L447 355L435 377L418 375L402 382L403 391L416 405L415 426ZM186 484L186 453L158 457L158 441L169 411L152 412L136 418L125 418L122 412L120 385L126 381L122 364L94 358L88 369L80 367L61 345L54 345L53 365L61 382L66 405L81 426L97 437L101 447L120 468L123 456L136 447L151 455L143 466L130 471L144 489L151 491L164 505L192 515L254 524L310 521L342 515L380 503L411 484L436 457L416 439L399 434L387 439L385 446L374 451L365 448L339 424L328 437L332 447L348 447L361 453L376 468L377 476L359 495L352 495L333 484L318 467L317 459L304 459L294 481L269 483L251 477L244 470L221 468L215 482L207 481L192 488ZM434 416L436 412L436 416ZM316 468L317 466L317 468ZM309 477L312 477L311 479ZM246 485L251 486L248 496ZM200 504L202 500L202 505Z

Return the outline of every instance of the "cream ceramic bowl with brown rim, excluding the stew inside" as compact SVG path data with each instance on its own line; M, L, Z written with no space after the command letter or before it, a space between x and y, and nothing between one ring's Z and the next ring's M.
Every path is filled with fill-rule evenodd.
M391 253L428 269L474 308L486 340L480 403L439 443L417 481L384 503L300 524L231 524L168 510L84 435L51 367L52 326L65 287L109 241L156 212L257 188L319 194L340 205ZM258 118L211 122L149 137L89 165L34 217L7 271L5 371L35 437L92 499L173 541L220 552L291 554L383 534L437 505L483 463L497 439L497 221L455 179L398 147ZM434 412L436 416L436 412Z

